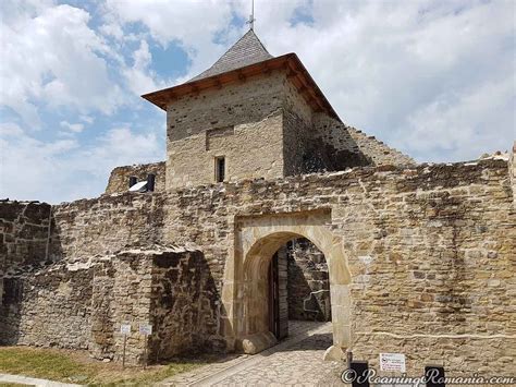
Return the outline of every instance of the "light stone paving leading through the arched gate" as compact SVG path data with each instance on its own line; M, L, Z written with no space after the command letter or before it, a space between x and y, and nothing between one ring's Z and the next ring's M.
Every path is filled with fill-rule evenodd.
M343 386L344 364L325 362L331 323L290 322L290 336L256 355L239 355L163 380L164 386Z

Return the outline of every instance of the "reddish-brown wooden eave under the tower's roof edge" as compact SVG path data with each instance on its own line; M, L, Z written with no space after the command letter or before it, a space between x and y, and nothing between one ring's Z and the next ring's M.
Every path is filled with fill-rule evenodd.
M304 89L304 93L308 97L310 105L324 110L329 116L335 118L337 121L341 121L339 114L335 112L331 104L325 98L324 94L306 70L303 62L294 52L267 59L265 61L253 63L221 74L211 75L197 81L189 81L181 85L144 94L142 98L167 111L167 106L181 96L198 94L210 88L221 88L229 83L238 81L242 82L247 77L260 75L280 69L284 69L288 72L288 76L293 78L296 87L297 84L302 85L298 89ZM294 78L297 81L294 81ZM311 104L311 101L314 101L314 104Z

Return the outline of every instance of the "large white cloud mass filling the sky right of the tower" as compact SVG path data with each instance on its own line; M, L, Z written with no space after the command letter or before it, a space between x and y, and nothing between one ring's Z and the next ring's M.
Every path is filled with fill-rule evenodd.
M280 3L260 3L259 36L273 55L297 52L347 123L421 161L516 137L514 2ZM312 23L285 22L299 7Z

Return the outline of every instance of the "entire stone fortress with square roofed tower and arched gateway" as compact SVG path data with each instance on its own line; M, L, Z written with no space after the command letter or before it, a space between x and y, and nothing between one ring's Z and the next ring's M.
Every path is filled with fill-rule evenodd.
M167 111L164 162L114 169L98 198L0 203L1 343L119 361L130 324L140 363L256 353L288 318L331 319L330 360L516 374L515 148L417 165L253 29L143 97Z

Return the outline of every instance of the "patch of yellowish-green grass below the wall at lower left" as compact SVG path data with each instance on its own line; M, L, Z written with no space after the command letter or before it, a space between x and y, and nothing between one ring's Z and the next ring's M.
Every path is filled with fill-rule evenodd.
M97 386L150 385L209 361L209 358L176 359L168 364L147 366L146 370L143 367L122 370L122 365L96 361L85 351L28 347L0 348L0 373Z

